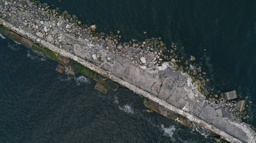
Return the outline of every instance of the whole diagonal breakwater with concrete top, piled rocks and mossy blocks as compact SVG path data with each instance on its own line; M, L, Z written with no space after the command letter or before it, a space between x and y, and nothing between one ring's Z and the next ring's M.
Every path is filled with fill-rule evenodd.
M18 7L18 4L22 4L24 8ZM40 13L35 14L35 11ZM250 125L236 120L233 113L220 104L209 103L198 91L198 82L192 83L188 74L176 69L175 62L178 60L172 59L173 62L163 62L161 65L154 64L157 63L152 58L154 52L142 48L146 45L145 41L139 43L138 47L137 44L121 45L114 40L110 48L104 43L108 39L103 42L90 36L96 26L88 26L85 30L79 26L79 21L69 22L65 18L67 13L58 15L52 11L56 9L35 6L35 2L30 0L1 0L0 32L17 43L49 56L63 66L70 66L93 78L97 81L95 89L103 89L103 93L108 89L117 90L122 85L153 101L147 104L148 107L161 106L154 111L171 119L182 117L184 120L180 122L184 125L189 126L189 122L193 122L231 143L256 143L256 133ZM71 29L80 31L74 34L69 32ZM160 42L159 45L164 44ZM136 64L129 56L120 55L119 51L125 48L144 53L138 57L141 64ZM160 63L161 59L157 60ZM162 109L164 112L161 112ZM167 113L171 113L173 117Z

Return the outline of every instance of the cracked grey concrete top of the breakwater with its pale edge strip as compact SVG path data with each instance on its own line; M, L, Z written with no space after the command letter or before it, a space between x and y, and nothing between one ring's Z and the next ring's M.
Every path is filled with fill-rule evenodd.
M61 30L63 27L59 27L57 24L53 24L55 25L52 27L54 33L60 35L58 38L69 43L68 45L73 44L72 46L61 43L54 45L49 43L46 37L31 34L25 28L17 28L3 19L0 19L0 24L35 41L47 50L77 61L105 78L109 78L164 108L219 134L227 141L232 143L256 142L256 134L249 125L243 122L236 123L232 120L232 116L225 114L222 108L220 112L220 108L209 105L204 96L197 90L197 83L192 83L188 74L175 70L171 62L163 63L162 66L155 67L155 70L153 68L141 70L127 58L103 50L101 45L95 45L88 39L76 39L69 36ZM11 38L19 41L16 35L11 36ZM37 48L43 53L47 51L36 45L32 46L32 50L33 48ZM93 54L101 54L106 60L94 60Z

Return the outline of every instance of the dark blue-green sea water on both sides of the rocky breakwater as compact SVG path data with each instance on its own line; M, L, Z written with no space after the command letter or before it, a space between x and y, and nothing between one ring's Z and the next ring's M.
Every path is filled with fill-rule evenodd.
M256 126L256 2L252 0L41 0L121 40L161 37L184 47L217 91L246 100L243 121ZM144 34L144 31L147 34ZM198 126L147 113L129 89L94 90L79 73L0 38L0 143L214 143ZM212 93L214 94L214 93ZM252 103L250 103L252 102Z

